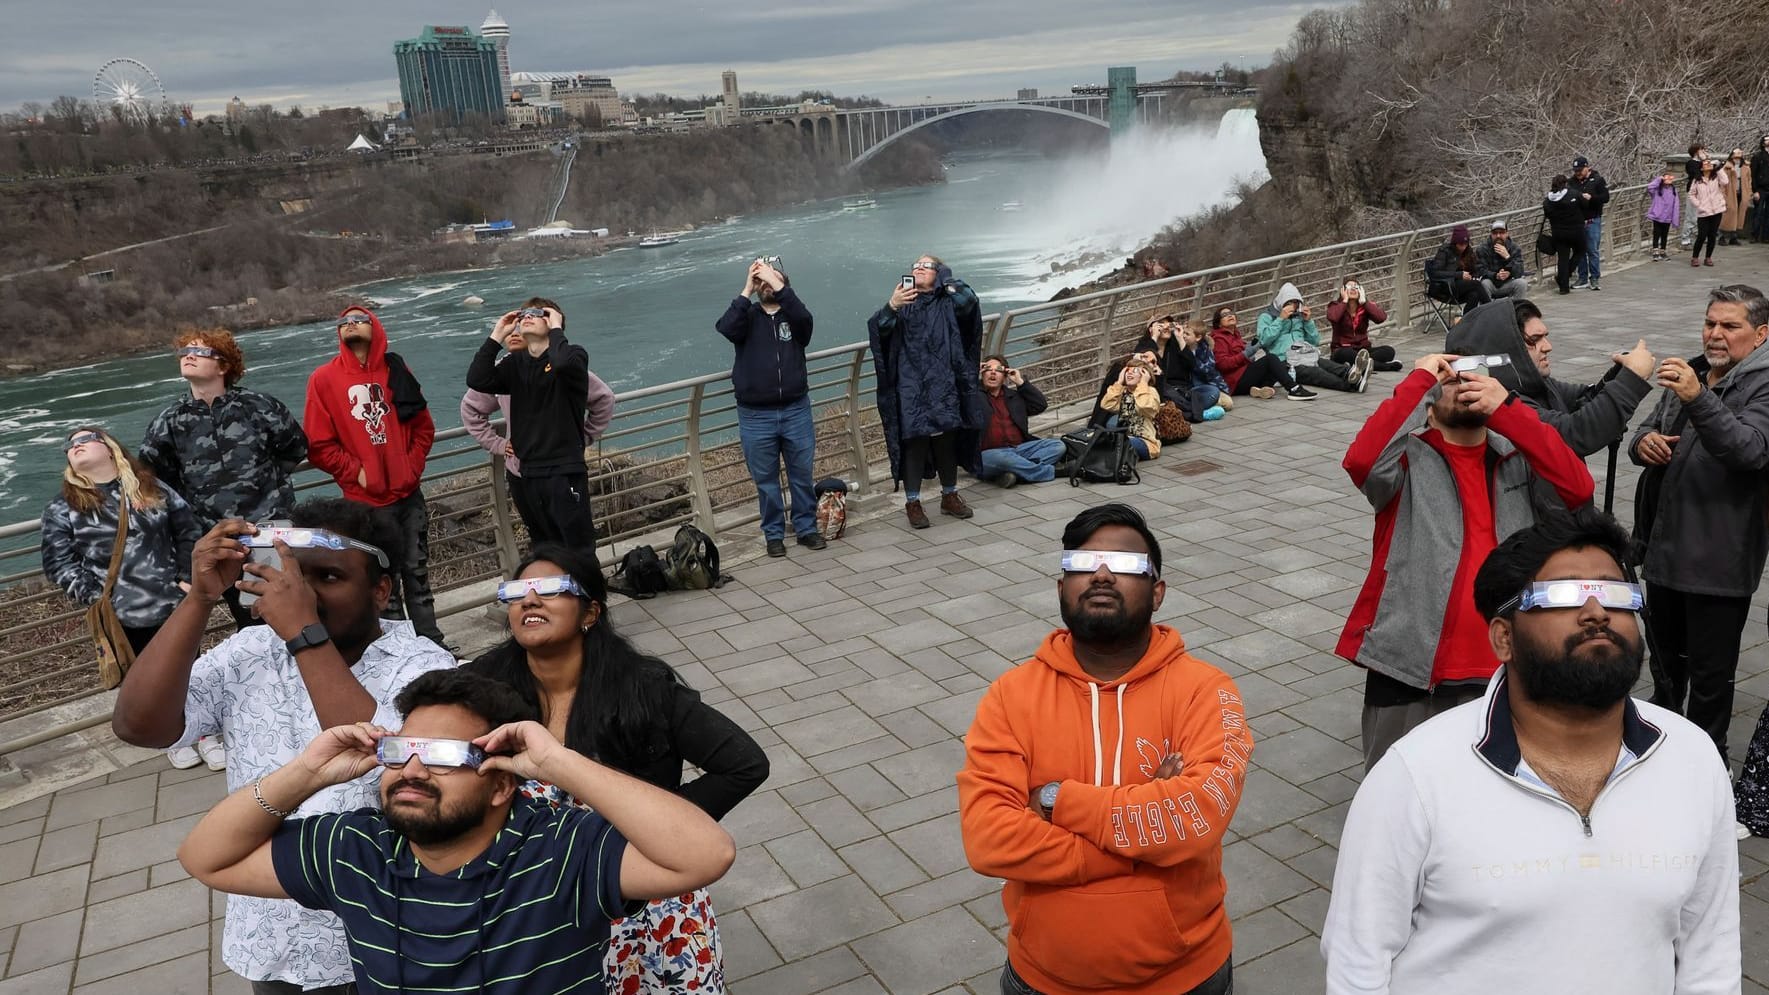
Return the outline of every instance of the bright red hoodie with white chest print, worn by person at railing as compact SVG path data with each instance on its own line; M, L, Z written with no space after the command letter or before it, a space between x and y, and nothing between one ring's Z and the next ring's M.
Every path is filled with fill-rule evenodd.
M417 379L387 352L380 319L366 308L350 313L368 315L368 356L357 359L338 333L338 356L308 377L302 428L308 459L345 498L384 508L417 490L437 430Z

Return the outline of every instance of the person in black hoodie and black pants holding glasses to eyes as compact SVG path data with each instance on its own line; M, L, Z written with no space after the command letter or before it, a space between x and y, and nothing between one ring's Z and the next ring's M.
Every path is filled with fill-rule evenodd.
M527 349L499 363L511 328L522 329ZM467 366L467 386L509 395L509 448L522 460L520 483L518 478L509 483L529 544L557 542L593 554L596 519L584 464L589 352L566 342L559 305L529 297L497 319Z

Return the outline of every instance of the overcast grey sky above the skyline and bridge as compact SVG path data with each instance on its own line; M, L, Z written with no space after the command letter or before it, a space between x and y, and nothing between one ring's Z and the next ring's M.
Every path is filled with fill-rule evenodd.
M1332 2L1332 0L1325 0ZM623 92L833 90L890 101L1003 97L1175 69L1265 66L1309 7L1288 0L501 0L509 66L591 69ZM0 110L92 96L110 58L150 66L198 113L228 97L278 106L398 99L393 42L485 19L486 0L83 0L7 4Z

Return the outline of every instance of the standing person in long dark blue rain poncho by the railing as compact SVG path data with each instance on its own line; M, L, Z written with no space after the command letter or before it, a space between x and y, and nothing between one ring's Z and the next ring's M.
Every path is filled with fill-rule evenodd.
M959 498L959 462L982 469L989 420L976 370L984 322L976 292L939 257L915 260L904 283L867 322L877 379L879 421L892 480L902 483L909 526L925 529L922 480L939 474L939 513L969 519Z

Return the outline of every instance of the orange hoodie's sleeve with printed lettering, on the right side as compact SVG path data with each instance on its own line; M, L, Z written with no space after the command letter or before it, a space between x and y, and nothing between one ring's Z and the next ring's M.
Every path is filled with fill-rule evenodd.
M1222 846L1252 756L1252 733L1235 682L1217 675L1203 683L1185 705L1182 722L1173 749L1185 758L1185 768L1176 777L1145 784L1063 781L1051 823L1107 853L1160 868Z

